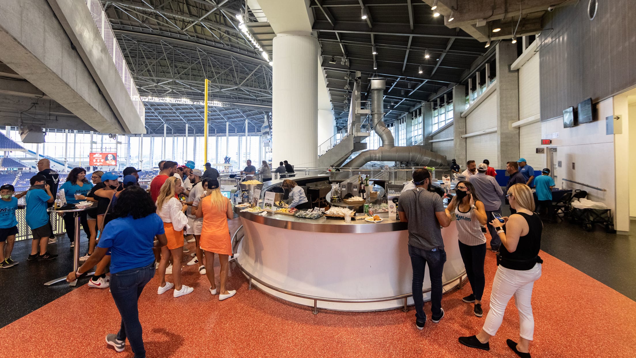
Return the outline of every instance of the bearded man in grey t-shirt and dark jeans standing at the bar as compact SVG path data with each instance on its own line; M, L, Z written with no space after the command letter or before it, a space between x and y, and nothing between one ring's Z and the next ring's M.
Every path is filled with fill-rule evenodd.
M415 326L423 329L426 322L422 284L428 264L431 277L432 320L438 323L444 317L441 308L441 275L446 262L444 240L439 226L447 227L450 219L444 211L441 197L427 189L431 186L431 172L428 169L413 171L415 189L400 194L397 202L399 219L408 222L408 255L413 267L413 303L415 303Z

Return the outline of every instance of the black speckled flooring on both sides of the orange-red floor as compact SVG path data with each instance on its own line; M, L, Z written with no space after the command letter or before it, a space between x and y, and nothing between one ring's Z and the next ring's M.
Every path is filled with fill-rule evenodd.
M234 227L238 225L237 222L232 224ZM85 236L82 236L81 254L84 254L87 245ZM541 248L636 301L636 285L633 285L636 278L636 222L633 222L629 236L606 234L601 226L587 233L567 222L546 223ZM29 250L30 241L18 241L12 256L20 264L13 268L0 269L0 302L4 306L4 312L0 315L0 327L73 290L65 282L44 285L53 278L66 276L73 269L73 250L69 247L66 236L61 236L58 243L50 245L50 252L59 254L55 260L27 262ZM88 278L82 278L77 287L87 281Z

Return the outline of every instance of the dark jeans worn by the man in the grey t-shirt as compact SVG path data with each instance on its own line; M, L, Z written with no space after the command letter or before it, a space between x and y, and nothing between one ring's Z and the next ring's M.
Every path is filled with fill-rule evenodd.
M441 273L446 262L446 251L438 248L435 251L424 250L408 245L408 255L411 257L413 266L413 303L415 303L415 319L418 322L426 321L424 313L424 294L422 294L422 283L424 283L424 273L426 264L429 265L429 276L431 277L431 312L435 317L441 315Z

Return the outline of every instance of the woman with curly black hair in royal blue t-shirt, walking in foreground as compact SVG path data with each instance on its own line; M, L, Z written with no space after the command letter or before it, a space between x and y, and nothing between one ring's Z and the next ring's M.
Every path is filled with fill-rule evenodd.
M146 283L155 276L155 236L160 245L167 244L163 221L155 211L150 194L141 187L123 190L114 206L114 219L104 227L95 252L66 278L68 282L77 280L111 252L110 287L120 311L121 327L119 333L106 335L106 343L121 352L128 338L136 358L146 357L137 301Z

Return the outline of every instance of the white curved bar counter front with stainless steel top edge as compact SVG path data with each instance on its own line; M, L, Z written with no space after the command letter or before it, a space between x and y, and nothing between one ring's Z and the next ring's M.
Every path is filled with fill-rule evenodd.
M236 261L251 285L285 301L338 311L391 310L413 304L406 223L388 218L315 220L247 211L237 214L244 237ZM444 292L466 278L455 221L441 229L446 250ZM430 300L429 270L424 301ZM408 300L408 301L407 301Z

